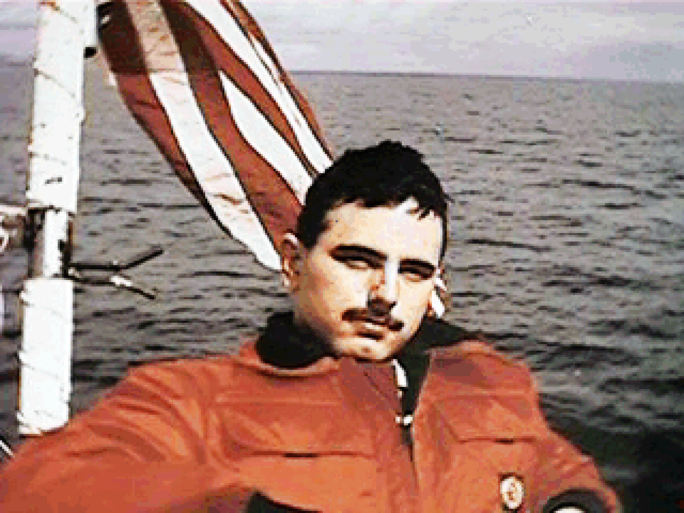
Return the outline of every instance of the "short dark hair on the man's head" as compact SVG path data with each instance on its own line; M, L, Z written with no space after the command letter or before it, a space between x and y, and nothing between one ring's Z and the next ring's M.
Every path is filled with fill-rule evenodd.
M319 174L306 192L297 221L297 237L312 248L326 231L328 211L359 202L366 208L400 205L414 198L421 217L434 212L442 220L442 250L447 246L447 201L437 177L417 150L399 142L383 141L377 146L347 150Z

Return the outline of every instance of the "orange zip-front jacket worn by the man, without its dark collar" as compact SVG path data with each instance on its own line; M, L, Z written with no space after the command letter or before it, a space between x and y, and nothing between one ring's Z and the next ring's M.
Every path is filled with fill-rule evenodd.
M303 369L238 356L133 371L94 410L26 443L0 473L10 512L245 511L259 492L324 512L520 512L568 489L616 511L590 458L553 434L529 371L479 343L432 350L412 425L390 365L328 356ZM215 508L215 509L214 509Z

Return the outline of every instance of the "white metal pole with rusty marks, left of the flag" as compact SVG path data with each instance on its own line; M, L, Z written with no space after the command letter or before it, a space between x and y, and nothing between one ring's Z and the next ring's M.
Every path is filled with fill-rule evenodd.
M26 191L31 256L21 294L23 435L60 428L69 417L73 282L64 276L79 182L83 51L94 19L94 0L40 1Z

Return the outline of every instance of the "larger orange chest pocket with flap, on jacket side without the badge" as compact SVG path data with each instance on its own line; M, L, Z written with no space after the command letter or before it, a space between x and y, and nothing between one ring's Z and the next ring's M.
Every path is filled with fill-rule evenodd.
M243 482L284 511L376 512L367 421L339 402L222 399L222 439Z

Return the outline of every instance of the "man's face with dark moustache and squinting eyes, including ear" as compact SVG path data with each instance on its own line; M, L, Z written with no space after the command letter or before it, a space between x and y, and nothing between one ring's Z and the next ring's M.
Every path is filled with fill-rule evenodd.
M411 339L430 305L440 263L442 221L419 217L417 202L349 203L328 212L311 249L289 234L283 272L295 323L338 356L390 358Z

